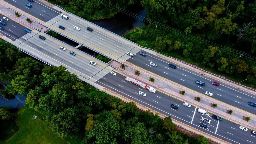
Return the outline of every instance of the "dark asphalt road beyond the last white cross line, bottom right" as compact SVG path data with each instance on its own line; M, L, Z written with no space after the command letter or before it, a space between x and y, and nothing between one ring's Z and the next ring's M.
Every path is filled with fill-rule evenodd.
M256 139L253 139L255 137L252 137L250 136L251 135L251 130L248 129L248 131L243 131L241 129L239 129L239 125L233 123L233 122L230 122L228 120L222 120L220 123L219 123L219 126L218 126L218 130L217 130L217 133L216 134L219 134L223 137L226 137L226 138L229 138L230 140L234 140L236 141L237 143L240 143L240 144L251 144L251 142L256 142L255 140ZM249 141L251 142L249 142Z

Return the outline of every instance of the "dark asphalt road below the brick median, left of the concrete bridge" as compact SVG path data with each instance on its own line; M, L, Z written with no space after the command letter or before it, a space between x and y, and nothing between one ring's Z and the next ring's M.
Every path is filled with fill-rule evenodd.
M9 17L7 17L9 20L6 21L3 19L3 16L0 13L0 19L3 20L6 25L0 25L4 28L4 30L0 30L0 32L5 35L6 37L10 38L11 40L15 41L19 38L21 38L22 36L26 35L26 32L24 31L24 29L26 29L26 27L20 25L19 23L13 21L12 19L10 19Z

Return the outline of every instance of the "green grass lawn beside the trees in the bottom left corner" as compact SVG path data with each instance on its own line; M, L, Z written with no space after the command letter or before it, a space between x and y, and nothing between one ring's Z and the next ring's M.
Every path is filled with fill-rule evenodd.
M65 144L66 142L53 134L52 130L39 119L31 119L33 113L25 106L17 111L16 124L19 131L3 144ZM76 143L69 139L70 143ZM1 143L1 142L0 142Z

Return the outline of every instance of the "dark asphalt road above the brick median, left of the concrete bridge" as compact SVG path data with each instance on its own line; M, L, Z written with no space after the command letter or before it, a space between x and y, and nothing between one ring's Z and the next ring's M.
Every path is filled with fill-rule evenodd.
M50 6L40 2L40 1L34 1L30 2L28 0L4 0L8 2L9 4L14 5L15 7L25 11L26 13L29 13L32 16L35 16L38 19L41 19L44 22L49 21L50 19L53 19L59 13L53 11ZM26 3L29 3L32 5L32 7L26 6ZM45 12L44 12L45 11Z

